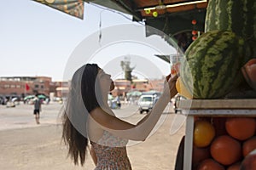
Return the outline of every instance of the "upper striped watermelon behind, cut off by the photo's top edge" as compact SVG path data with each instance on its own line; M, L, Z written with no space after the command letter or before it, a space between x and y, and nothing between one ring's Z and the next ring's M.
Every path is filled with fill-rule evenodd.
M256 58L256 0L209 0L205 32L234 31L249 42Z

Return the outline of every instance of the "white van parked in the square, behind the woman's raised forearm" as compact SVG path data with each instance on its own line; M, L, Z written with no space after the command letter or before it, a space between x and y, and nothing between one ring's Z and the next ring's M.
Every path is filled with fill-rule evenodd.
M154 95L142 95L137 104L139 105L139 111L142 114L143 111L151 111L154 104L156 103L157 98Z

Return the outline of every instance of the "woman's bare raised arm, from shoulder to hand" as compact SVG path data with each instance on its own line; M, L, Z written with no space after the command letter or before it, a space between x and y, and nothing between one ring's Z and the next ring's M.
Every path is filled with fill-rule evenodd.
M166 79L169 80L168 82L165 81L164 92L160 96L160 99L158 99L152 111L150 111L147 116L144 116L136 125L122 121L99 107L90 112L91 120L100 125L104 130L120 138L139 141L145 140L158 122L166 105L170 102L170 99L177 94L175 88L177 76L172 78L168 76Z

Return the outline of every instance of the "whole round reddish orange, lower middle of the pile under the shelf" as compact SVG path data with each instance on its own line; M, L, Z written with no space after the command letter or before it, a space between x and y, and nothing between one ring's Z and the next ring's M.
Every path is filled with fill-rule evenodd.
M223 165L231 165L241 157L241 144L228 135L219 136L211 144L211 155Z

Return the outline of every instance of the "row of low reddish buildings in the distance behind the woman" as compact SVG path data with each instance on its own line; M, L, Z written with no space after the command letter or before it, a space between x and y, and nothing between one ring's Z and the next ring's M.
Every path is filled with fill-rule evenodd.
M131 82L117 79L113 82L115 84L113 96L125 96L131 90L162 91L164 80L133 79ZM51 77L0 77L0 94L22 97L36 93L62 98L68 93L68 82L52 82Z

